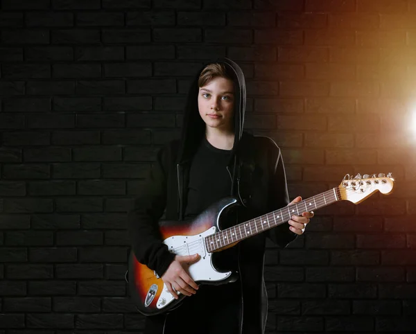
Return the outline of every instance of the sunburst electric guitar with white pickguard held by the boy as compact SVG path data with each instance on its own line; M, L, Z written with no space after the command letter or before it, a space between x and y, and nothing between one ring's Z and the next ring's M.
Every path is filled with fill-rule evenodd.
M320 209L329 204L347 200L358 204L376 191L388 195L392 192L394 179L391 173L379 175L345 175L339 186L329 191L314 195L282 209L266 213L247 222L220 229L221 215L230 208L240 204L235 197L225 197L212 204L191 222L184 226L183 222L159 222L159 229L170 252L177 255L198 253L198 262L189 266L189 275L198 284L218 285L235 280L234 272L219 272L212 263L213 252L220 252L232 247L239 241L254 236L277 225L287 222L293 214L300 216L305 211ZM128 282L130 292L137 310L144 315L165 313L179 306L186 297L180 294L179 299L173 298L168 292L162 278L154 270L137 261L134 253L130 253Z

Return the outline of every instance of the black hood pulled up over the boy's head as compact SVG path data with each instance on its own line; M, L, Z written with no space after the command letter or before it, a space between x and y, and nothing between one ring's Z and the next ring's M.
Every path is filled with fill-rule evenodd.
M196 152L198 145L202 138L205 136L205 122L202 121L200 114L198 112L198 78L202 69L204 69L208 64L214 62L225 64L228 72L232 76L234 81L234 146L232 148L232 155L230 161L234 159L234 168L235 169L235 153L239 147L239 142L243 136L243 124L244 124L244 114L245 114L245 80L243 71L238 64L233 62L228 58L219 58L218 60L207 62L204 64L196 76L191 82L191 87L189 88L187 103L184 109L184 118L182 123L182 136L180 139L180 151L177 157L177 163L180 164L188 159L191 159L193 154ZM234 170L233 170L234 173ZM234 179L234 177L233 177Z

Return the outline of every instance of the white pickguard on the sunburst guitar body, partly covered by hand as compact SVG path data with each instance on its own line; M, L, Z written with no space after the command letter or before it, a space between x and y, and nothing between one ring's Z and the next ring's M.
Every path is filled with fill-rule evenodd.
M211 253L205 249L204 238L216 232L216 227L211 227L202 234L196 236L171 236L164 240L169 250L177 255L199 254L200 260L189 266L189 274L193 281L223 281L227 279L232 272L217 272L211 262ZM164 308L173 301L171 292L168 292L166 285L163 285L163 291L157 300L157 308Z

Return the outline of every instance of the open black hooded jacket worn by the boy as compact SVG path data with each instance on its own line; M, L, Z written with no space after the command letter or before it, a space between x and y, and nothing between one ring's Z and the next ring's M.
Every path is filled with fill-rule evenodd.
M255 137L243 131L245 81L240 67L225 63L234 79L235 139L227 170L232 177L230 195L241 201L239 222L250 220L288 204L283 159L276 143L268 137ZM202 71L202 69L201 69ZM132 251L137 260L162 276L174 254L162 243L157 222L183 220L191 157L205 136L205 123L198 113L198 77L191 85L184 112L182 138L159 150L143 191L128 213ZM239 273L243 297L242 333L263 333L266 326L267 294L263 279L266 236L279 247L286 247L297 234L284 223L239 245ZM162 324L163 326L163 324Z

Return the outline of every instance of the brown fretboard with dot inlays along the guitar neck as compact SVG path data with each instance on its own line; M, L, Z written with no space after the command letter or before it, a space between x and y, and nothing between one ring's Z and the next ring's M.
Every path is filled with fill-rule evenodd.
M293 215L300 216L305 211L320 209L340 200L340 198L340 189L337 186L301 202L285 206L282 209L266 213L264 216L259 216L247 222L229 227L228 229L223 229L223 231L219 231L211 236L207 236L205 238L205 245L208 252L214 252L233 243L250 238L250 236L255 236L263 231L277 227L290 220Z

